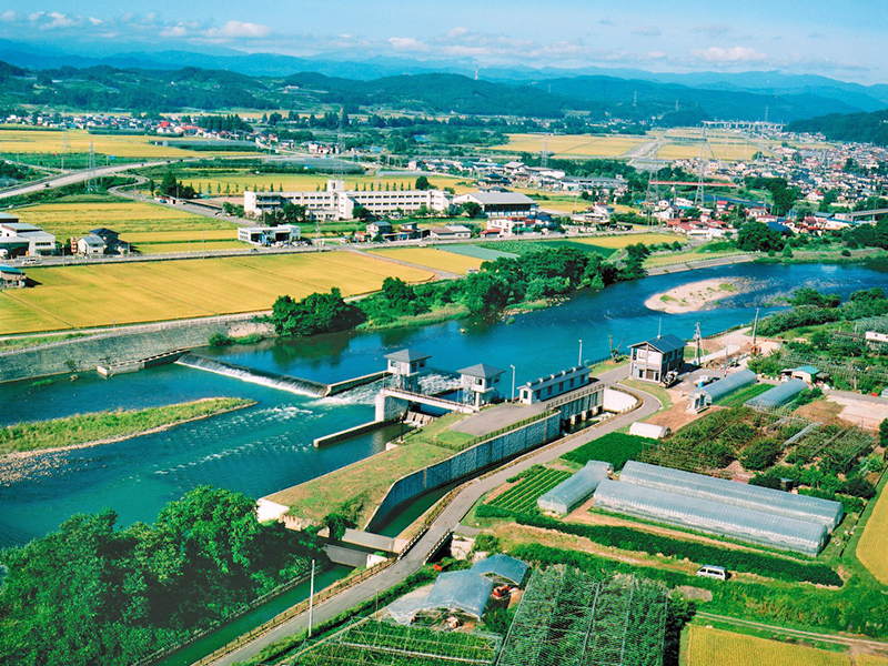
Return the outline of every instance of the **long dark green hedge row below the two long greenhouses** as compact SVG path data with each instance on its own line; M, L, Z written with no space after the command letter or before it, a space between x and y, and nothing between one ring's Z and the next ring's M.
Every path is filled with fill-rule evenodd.
M511 513L497 508L497 515L493 515L494 512L491 512L491 515L487 516L485 512L485 515L482 516L481 508L484 507L480 507L476 514L480 517L506 517ZM511 517L519 525L573 534L594 541L603 546L624 551L638 551L650 555L660 554L678 559L687 557L698 564L719 564L729 569L759 574L780 581L806 581L818 585L841 585L839 575L824 564L806 564L764 553L727 549L720 546L649 534L630 527L563 523L535 514L511 514Z

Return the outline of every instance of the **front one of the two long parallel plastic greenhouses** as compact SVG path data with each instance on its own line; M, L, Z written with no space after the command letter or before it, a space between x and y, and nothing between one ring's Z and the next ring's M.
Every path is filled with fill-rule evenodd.
M595 491L595 508L811 556L827 539L823 523L610 480Z

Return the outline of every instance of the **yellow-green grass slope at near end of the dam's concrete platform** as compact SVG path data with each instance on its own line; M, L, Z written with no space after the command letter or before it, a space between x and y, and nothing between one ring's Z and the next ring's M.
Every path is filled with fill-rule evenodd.
M395 481L451 455L451 450L431 444L398 446L274 493L269 500L319 523L335 512L364 526Z

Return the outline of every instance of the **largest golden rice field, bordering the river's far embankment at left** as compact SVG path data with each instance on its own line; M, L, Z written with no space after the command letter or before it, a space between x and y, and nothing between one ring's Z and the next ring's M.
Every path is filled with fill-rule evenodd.
M28 333L268 310L339 286L379 290L387 276L431 280L428 271L350 252L170 262L110 263L27 271L37 286L0 293L0 333Z

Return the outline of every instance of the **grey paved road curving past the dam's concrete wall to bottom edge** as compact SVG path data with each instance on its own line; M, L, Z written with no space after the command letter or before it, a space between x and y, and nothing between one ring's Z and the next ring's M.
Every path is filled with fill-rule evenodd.
M626 376L628 369L626 366L604 373L599 379L606 383L615 383L619 379ZM635 391L635 390L634 390ZM554 444L541 448L534 454L526 456L519 463L509 465L502 468L500 472L492 474L483 480L476 480L466 484L456 497L447 505L441 513L437 519L432 524L423 537L416 542L411 548L410 553L401 561L396 562L389 568L382 571L376 576L367 578L363 583L349 588L340 595L336 595L322 604L319 604L314 609L314 624L317 625L325 622L341 613L353 608L362 602L370 601L390 587L401 583L404 578L423 566L430 551L443 538L447 533L452 532L462 521L474 504L485 493L496 488L505 483L506 478L514 476L516 473L529 468L532 465L541 465L554 461L568 451L573 451L577 446L601 437L607 433L615 432L626 425L640 421L650 416L660 408L659 401L650 394L642 394L644 402L637 410L616 416L596 427L589 428L586 432L579 433L573 437L565 437ZM249 643L240 649L218 659L214 662L216 666L232 666L238 662L242 662L250 657L258 655L264 647L291 636L303 632L307 628L309 618L307 613L297 615L272 632L258 637L252 643Z

